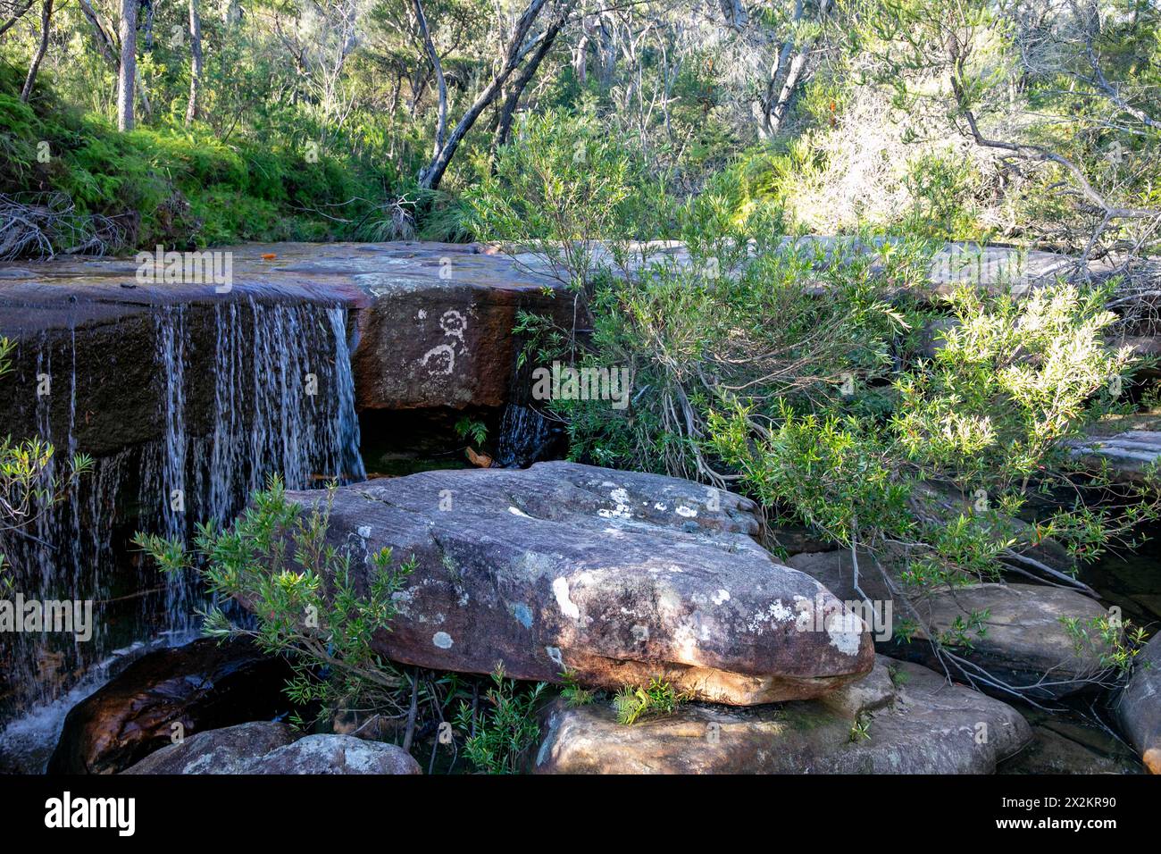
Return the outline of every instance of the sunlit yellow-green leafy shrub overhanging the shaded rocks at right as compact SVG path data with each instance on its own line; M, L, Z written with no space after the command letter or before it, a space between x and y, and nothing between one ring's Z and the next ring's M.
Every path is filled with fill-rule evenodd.
M784 406L770 424L740 404L711 417L712 444L763 501L884 562L906 553L908 583L995 579L1014 552L1046 539L1095 559L1159 511L1154 483L1133 487L1123 511L1086 503L1063 445L1130 374L1128 351L1104 343L1115 320L1106 293L1058 285L1016 301L961 290L944 345L895 378L886 417ZM1017 518L1061 487L1074 505L1034 524Z

